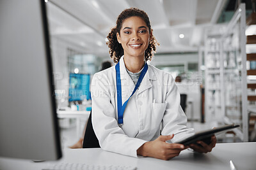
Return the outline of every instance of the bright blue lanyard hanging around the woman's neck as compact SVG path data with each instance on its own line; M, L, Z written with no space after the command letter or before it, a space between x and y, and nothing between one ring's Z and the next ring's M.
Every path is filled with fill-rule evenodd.
M134 92L136 92L136 90L140 86L140 83L143 80L143 77L147 73L148 64L146 62L143 70L141 71L139 80L136 83L136 86L134 87L134 90L133 90L131 96L127 99L127 101L125 101L124 105L122 105L122 85L121 85L121 79L120 79L120 64L119 64L119 62L116 64L115 68L116 68L116 91L117 91L116 93L117 93L118 124L123 124L123 116L124 116L125 107L129 101L129 99L132 97Z

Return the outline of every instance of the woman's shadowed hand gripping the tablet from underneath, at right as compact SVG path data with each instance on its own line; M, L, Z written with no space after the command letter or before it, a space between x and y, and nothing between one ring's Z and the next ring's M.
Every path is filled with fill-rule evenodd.
M192 148L193 150L199 153L207 153L212 151L212 148L215 147L216 142L217 142L217 139L216 139L216 136L214 135L211 137L211 143L209 145L204 143L204 141L197 141L196 143L200 144L201 146L196 144L190 144L189 148Z

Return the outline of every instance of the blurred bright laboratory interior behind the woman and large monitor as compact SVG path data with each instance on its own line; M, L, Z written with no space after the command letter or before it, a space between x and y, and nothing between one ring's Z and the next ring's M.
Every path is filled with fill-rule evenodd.
M256 141L254 1L45 2L63 147L83 138L92 76L102 62L112 62L106 36L130 7L150 18L160 44L150 64L172 74L188 126L202 131L234 123L240 127L218 135L218 143Z

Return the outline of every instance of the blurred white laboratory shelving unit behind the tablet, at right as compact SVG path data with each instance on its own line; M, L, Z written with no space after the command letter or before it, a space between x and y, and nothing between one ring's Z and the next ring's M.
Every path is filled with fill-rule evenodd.
M239 124L237 137L248 141L245 5L218 33L205 32L205 122Z

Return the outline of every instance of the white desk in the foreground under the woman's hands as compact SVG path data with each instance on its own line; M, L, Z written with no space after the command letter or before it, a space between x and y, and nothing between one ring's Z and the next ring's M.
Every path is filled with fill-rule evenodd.
M200 154L184 150L179 157L171 160L160 160L150 157L127 157L117 153L103 151L100 148L66 149L63 158L58 162L74 162L98 165L134 166L138 170L150 169L230 169L232 160L237 170L256 169L256 143L223 143L217 144L211 153ZM0 158L0 169L35 169L49 165L49 162L34 163L31 160ZM51 162L52 164L52 162Z

